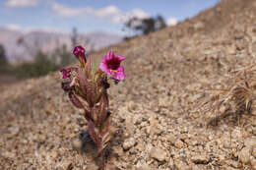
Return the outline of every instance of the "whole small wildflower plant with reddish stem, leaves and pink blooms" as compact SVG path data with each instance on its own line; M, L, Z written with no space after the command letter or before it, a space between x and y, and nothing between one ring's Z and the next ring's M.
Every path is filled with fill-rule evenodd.
M118 83L127 78L124 67L120 66L125 57L110 51L103 57L99 68L93 69L92 56L87 59L85 52L82 46L74 48L73 54L80 64L60 70L64 80L61 86L68 92L74 106L85 111L88 132L102 156L101 169L104 169L105 148L114 133L108 109L108 80Z

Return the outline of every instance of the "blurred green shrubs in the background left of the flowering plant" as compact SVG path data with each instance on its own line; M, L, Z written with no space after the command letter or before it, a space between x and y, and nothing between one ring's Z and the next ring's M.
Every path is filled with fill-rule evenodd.
M78 42L76 28L73 28L71 42L73 46ZM30 50L29 44L23 38L19 41L19 44ZM0 44L0 76L6 74L20 79L36 78L57 71L75 62L76 58L72 55L71 51L67 50L67 46L64 44L57 47L51 55L39 50L35 54L32 62L24 62L18 66L11 66L6 58L4 46Z

